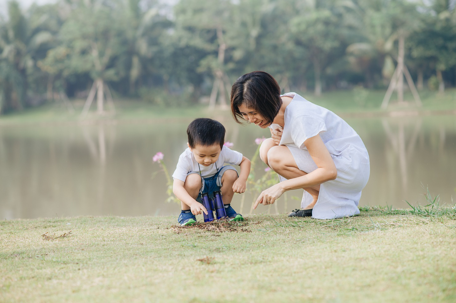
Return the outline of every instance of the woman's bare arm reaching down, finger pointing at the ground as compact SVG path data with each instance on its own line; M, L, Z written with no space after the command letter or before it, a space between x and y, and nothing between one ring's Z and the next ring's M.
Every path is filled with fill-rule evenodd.
M307 139L304 144L317 165L317 169L309 174L282 181L264 190L255 201L254 209L259 203L273 204L287 190L312 187L337 178L336 165L320 135Z

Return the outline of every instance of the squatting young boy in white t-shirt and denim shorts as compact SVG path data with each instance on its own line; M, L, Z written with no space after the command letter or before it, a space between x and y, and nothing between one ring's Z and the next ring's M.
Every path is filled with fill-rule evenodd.
M181 226L196 223L195 216L204 212L201 194L221 188L223 204L230 221L242 221L242 215L233 210L230 203L234 193L245 191L250 173L250 160L241 153L224 146L225 128L222 123L209 119L197 118L187 128L188 148L180 155L172 177L173 193L181 200L181 215L177 219ZM239 165L238 175L231 165Z

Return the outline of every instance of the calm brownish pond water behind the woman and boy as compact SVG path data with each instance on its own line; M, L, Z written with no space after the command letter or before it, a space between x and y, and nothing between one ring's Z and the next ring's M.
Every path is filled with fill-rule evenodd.
M239 126L215 117L227 128L233 149L251 158L255 138L269 130ZM98 122L86 125L0 126L0 220L62 216L178 215L180 206L165 202L166 176L152 157L162 152L170 174L186 148L179 121ZM456 196L456 116L345 118L368 149L371 175L359 203L426 204L425 190L440 204ZM257 162L255 175L264 174ZM244 199L242 199L244 195ZM298 208L302 190L254 213ZM256 194L235 194L233 207L249 213Z

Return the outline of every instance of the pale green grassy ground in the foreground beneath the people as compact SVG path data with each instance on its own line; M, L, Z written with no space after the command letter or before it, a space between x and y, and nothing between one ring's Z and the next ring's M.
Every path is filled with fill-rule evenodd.
M0 221L0 302L455 302L456 210ZM71 231L71 232L70 232Z

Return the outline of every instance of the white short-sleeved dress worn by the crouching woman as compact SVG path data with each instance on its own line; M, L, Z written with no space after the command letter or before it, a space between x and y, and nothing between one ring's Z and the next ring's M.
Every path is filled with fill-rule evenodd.
M307 101L295 92L282 96L293 100L285 109L280 145L286 145L290 149L299 169L310 173L317 166L304 141L320 134L337 168L337 178L320 185L312 217L334 219L358 215L361 190L366 186L370 173L369 155L363 141L347 122L330 110ZM279 125L270 126L276 127ZM304 191L301 208L311 202L312 196Z

